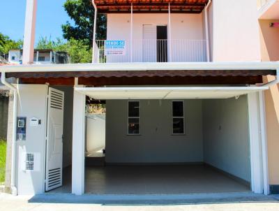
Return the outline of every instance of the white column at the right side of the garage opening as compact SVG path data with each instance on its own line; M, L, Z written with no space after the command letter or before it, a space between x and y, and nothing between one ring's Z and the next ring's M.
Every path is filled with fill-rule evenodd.
M262 100L258 92L248 94L251 188L256 194L268 194L266 182L264 182L264 178L268 177L268 173L266 169L267 158L263 160L264 149L262 146L263 143L266 144L266 138L264 138L265 133L262 128L264 126Z

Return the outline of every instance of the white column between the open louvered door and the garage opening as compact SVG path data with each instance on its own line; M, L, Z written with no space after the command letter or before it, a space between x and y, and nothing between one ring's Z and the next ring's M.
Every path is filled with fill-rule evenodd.
M85 96L74 90L72 194L76 195L84 194L84 115Z

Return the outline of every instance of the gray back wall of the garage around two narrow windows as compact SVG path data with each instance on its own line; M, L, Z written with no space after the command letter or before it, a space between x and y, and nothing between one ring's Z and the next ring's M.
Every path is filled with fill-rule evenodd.
M141 135L127 136L126 100L107 101L108 163L202 162L202 100L185 100L186 134L172 135L172 101L140 101Z

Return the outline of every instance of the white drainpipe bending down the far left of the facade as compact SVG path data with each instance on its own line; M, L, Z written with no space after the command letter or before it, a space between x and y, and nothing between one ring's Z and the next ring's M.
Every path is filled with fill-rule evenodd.
M1 73L1 82L6 87L9 87L13 90L13 139L12 139L12 166L11 166L11 180L10 180L10 189L13 195L17 195L17 187L15 187L15 140L16 140L16 131L17 131L17 87L11 85L6 81L6 73Z

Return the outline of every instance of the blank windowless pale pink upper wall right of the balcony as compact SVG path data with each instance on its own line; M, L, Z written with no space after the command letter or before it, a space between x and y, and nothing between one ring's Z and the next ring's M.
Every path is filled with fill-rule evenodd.
M257 1L214 0L212 3L213 61L260 61Z

